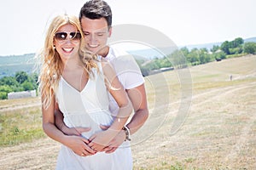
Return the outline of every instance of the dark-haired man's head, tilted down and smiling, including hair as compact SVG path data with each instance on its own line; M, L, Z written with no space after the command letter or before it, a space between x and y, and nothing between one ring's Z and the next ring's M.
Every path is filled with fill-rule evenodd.
M90 0L80 10L79 20L84 31L85 48L96 54L108 54L106 48L112 31L112 12L108 3Z

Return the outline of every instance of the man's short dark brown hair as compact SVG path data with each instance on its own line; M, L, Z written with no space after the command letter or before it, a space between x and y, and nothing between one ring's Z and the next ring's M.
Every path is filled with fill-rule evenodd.
M112 11L108 3L102 0L90 0L84 3L84 6L80 10L79 20L82 17L89 18L90 20L96 20L104 18L107 20L108 27L112 26Z

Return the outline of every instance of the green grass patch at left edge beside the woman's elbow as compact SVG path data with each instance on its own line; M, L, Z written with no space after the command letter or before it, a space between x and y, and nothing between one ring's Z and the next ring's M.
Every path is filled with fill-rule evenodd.
M0 135L0 146L12 146L44 138L40 108L0 112Z

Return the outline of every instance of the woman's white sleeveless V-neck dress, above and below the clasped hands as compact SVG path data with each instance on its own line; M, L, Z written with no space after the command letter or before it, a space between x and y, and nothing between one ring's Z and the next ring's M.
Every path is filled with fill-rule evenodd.
M91 76L81 92L73 88L61 77L59 88L55 94L67 127L91 127L89 132L82 134L86 139L89 139L92 134L102 131L99 127L101 124L111 125L113 122L113 116L108 110L108 91L100 64L99 68L100 73L93 69L94 77ZM125 141L111 154L98 152L94 156L78 156L67 146L61 145L56 169L131 170L130 143Z

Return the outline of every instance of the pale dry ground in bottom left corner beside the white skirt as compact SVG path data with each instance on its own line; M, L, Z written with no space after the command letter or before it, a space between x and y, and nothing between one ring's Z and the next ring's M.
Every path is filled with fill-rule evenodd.
M1 148L1 169L55 169L60 144L52 139Z

